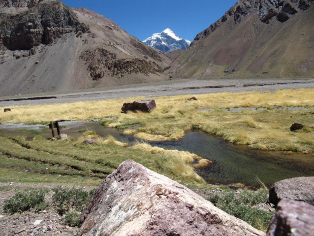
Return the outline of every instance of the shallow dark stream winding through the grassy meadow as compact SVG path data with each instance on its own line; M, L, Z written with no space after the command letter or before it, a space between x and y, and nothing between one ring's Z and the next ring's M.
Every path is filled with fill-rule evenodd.
M123 135L122 131L103 127L97 122L75 121L63 122L66 126L62 133L77 138L82 135L82 129L93 130L97 135L112 135L117 140L132 142L136 140L132 135ZM2 124L0 133L7 135L25 135L31 140L34 134L25 132L38 130L45 137L51 137L47 126L25 124ZM19 130L16 132L16 130ZM208 167L196 171L209 183L244 183L250 186L257 185L256 177L265 184L272 184L285 178L314 175L314 156L312 154L293 153L287 155L281 151L262 151L251 149L248 146L239 146L228 143L223 139L203 132L189 132L181 140L150 142L152 146L165 149L178 149L214 161Z

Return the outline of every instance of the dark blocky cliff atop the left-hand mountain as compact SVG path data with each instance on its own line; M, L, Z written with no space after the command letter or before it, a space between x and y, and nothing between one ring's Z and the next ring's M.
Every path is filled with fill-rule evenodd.
M0 46L9 50L30 50L41 43L53 43L63 34L89 32L89 26L81 24L59 1L8 1L4 6L28 8L18 14L1 14Z

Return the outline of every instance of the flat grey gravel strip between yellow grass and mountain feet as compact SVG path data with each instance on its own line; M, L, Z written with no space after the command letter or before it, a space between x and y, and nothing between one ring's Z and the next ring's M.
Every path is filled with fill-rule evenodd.
M257 80L257 79L212 79L212 80L175 80L157 83L135 84L129 86L103 88L102 90L85 90L64 94L41 94L39 99L20 100L24 98L34 98L36 95L29 97L15 96L13 98L0 98L0 107L10 107L15 105L36 105L51 103L66 103L74 101L97 101L130 97L159 97L174 95L197 95L220 92L241 92L253 90L277 90L277 89L298 89L314 88L314 79L295 79L295 80ZM40 99L45 96L45 99ZM48 98L47 97L54 97ZM10 101L7 101L10 100ZM14 101L20 100L20 101Z

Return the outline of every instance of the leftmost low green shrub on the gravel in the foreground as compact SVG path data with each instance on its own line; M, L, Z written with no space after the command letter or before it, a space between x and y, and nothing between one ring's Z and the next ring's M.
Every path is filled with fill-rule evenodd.
M23 212L35 207L45 201L46 191L29 190L23 193L17 193L12 198L6 200L3 205L5 213L14 214Z

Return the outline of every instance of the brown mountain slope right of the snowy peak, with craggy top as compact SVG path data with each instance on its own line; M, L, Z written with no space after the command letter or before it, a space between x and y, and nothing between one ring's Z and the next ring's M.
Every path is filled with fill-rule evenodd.
M239 0L165 74L183 78L314 77L314 0Z

